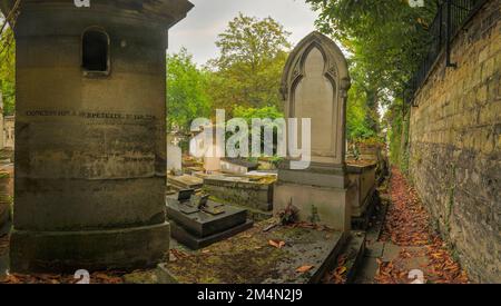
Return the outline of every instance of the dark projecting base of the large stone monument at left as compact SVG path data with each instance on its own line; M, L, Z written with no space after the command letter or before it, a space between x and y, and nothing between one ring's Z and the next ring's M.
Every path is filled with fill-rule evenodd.
M169 237L168 223L94 231L13 230L11 270L73 273L155 267L169 248Z

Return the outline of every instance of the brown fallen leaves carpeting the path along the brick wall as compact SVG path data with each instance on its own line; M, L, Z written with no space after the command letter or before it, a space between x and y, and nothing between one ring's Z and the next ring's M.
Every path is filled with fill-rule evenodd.
M384 263L379 260L379 270L375 277L380 284L409 284L405 260L412 257L426 257L428 264L420 269L428 283L435 284L464 284L468 276L458 263L452 259L443 240L432 234L429 227L430 216L424 209L418 193L412 188L405 177L396 169L392 169L391 198L382 240L392 241L401 247L423 247L425 254L411 254L405 248L399 257Z

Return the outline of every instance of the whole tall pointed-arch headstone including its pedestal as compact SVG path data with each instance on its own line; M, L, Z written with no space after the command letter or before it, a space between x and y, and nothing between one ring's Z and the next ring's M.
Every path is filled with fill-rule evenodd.
M291 169L292 158L279 166L275 215L292 205L301 220L350 230L345 166L350 86L346 60L327 37L313 32L291 53L283 75L285 115L312 119L312 162L306 170Z

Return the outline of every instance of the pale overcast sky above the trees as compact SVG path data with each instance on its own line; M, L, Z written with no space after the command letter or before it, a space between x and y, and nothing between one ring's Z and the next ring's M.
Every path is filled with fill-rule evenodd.
M169 52L186 47L203 65L217 57L217 34L238 12L250 17L272 17L285 27L296 43L315 29L317 17L304 0L190 0L195 8L169 31Z

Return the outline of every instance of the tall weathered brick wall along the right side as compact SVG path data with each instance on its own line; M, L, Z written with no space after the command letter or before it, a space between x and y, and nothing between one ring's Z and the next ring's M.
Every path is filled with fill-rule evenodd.
M411 110L410 172L472 282L501 282L501 22L489 1Z

